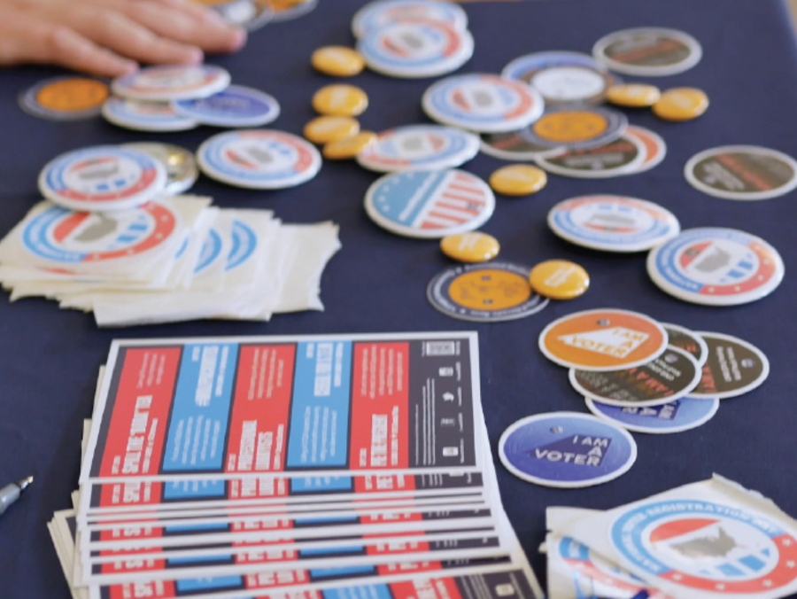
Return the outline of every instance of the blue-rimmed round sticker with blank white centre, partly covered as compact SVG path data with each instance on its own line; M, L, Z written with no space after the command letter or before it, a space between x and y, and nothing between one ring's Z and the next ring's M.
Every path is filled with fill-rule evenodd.
M578 52L536 52L515 58L504 77L537 89L548 105L600 104L615 77L594 58Z

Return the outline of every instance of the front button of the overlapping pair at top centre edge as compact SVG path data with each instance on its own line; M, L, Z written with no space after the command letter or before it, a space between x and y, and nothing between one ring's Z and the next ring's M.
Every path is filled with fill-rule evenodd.
M473 36L443 21L399 21L364 35L357 50L368 68L392 77L437 77L473 56Z

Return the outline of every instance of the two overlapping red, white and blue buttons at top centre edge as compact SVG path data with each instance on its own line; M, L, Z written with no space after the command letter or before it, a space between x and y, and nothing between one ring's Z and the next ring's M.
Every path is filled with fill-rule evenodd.
M368 68L391 77L437 77L473 55L467 14L442 0L377 0L354 15L352 32Z

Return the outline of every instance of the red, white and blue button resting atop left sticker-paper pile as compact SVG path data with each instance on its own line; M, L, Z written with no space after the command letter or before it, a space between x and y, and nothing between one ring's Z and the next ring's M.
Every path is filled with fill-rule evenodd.
M164 191L166 167L145 152L97 145L52 159L39 191L52 203L95 212L140 206Z

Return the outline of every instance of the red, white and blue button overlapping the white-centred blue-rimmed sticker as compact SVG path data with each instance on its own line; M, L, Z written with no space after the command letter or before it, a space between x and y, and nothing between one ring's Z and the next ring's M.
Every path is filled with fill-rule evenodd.
M447 77L426 90L422 105L433 121L479 133L517 131L545 110L537 91L494 74Z

